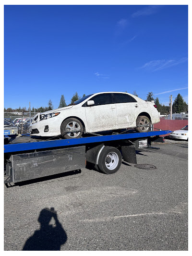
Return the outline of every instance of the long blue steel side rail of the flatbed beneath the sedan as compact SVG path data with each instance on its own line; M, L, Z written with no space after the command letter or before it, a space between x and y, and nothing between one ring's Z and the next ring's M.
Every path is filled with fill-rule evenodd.
M59 146L72 146L72 145L84 145L87 143L98 143L113 140L124 140L124 139L137 139L142 137L150 137L157 135L169 134L171 131L152 131L148 133L130 133L130 134L116 134L116 135L103 135L103 136L93 136L84 137L79 139L62 139L62 140L50 140L50 141L38 141L38 142L27 142L27 143L17 143L4 145L4 153L26 151L34 149L42 149L49 147L59 147Z

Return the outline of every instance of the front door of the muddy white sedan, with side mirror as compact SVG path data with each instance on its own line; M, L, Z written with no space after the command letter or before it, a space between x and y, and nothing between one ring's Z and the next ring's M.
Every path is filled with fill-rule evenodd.
M86 106L85 115L90 130L110 130L117 126L116 105L112 102L111 93L103 93L90 98L95 104Z

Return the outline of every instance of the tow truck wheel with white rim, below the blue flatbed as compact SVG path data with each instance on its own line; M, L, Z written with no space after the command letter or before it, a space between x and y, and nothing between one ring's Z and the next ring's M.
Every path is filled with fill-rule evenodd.
M113 174L120 169L122 157L120 151L112 146L106 146L98 159L98 168L105 174Z

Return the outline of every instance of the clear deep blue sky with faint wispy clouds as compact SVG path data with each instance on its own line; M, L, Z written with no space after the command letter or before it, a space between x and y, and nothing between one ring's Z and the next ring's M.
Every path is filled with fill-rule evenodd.
M4 6L5 108L134 90L188 103L187 5Z

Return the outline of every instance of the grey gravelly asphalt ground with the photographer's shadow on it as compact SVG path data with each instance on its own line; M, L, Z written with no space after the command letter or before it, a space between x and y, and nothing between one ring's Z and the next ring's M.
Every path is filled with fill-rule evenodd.
M156 169L4 185L4 250L188 250L188 142L152 146L137 163Z

